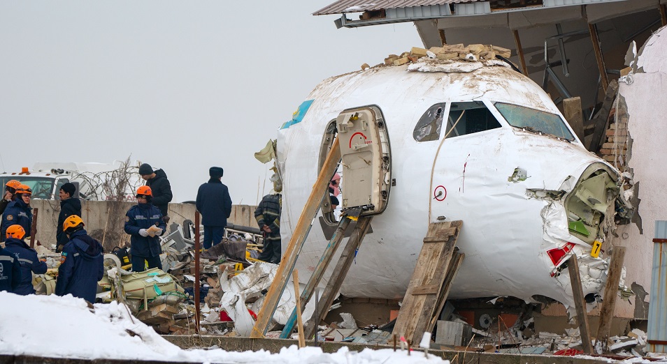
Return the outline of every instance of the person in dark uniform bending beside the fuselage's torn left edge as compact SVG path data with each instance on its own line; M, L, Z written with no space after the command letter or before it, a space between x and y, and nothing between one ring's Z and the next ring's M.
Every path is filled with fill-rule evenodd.
M280 245L280 208L282 207L282 195L266 195L254 210L254 218L264 235L264 248L257 259L279 264L282 257Z

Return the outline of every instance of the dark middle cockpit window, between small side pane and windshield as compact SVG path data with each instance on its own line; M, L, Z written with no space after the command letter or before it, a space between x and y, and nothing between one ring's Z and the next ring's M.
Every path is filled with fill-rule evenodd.
M450 114L447 116L447 133L445 136L448 138L458 137L500 127L501 125L496 117L481 101L452 103Z

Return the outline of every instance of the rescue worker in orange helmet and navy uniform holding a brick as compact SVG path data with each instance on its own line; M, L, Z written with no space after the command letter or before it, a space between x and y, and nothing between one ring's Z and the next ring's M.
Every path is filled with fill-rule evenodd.
M160 209L151 204L152 191L148 185L136 190L135 206L125 214L125 232L131 235L132 271L145 271L148 268L162 269L160 254L162 247L158 236L166 229Z

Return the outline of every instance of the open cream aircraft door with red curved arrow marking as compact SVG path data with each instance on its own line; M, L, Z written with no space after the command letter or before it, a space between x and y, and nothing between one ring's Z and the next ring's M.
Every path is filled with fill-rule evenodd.
M375 215L387 208L392 187L389 135L380 107L346 109L336 118L340 143L343 211L361 208Z

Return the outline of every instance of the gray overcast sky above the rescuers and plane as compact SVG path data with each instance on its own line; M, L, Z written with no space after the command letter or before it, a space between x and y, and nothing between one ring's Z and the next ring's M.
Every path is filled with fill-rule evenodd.
M0 170L131 155L182 202L218 165L256 204L253 153L318 82L422 44L412 23L310 15L331 2L0 1Z

